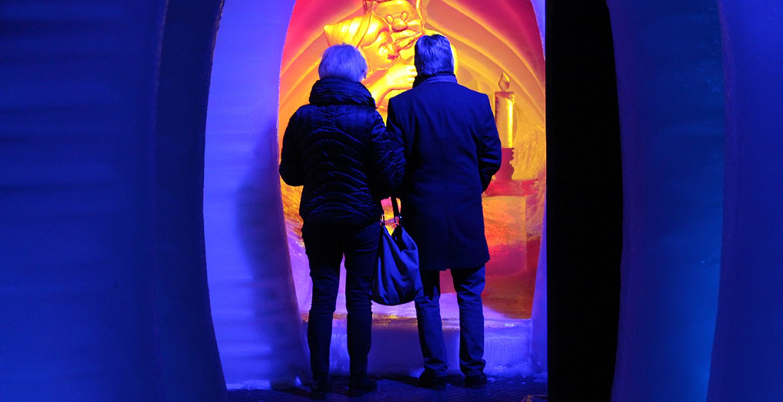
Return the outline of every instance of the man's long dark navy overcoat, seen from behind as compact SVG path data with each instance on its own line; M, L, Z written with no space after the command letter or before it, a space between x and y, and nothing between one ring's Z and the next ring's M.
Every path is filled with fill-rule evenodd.
M404 166L397 196L420 269L481 267L489 261L482 192L500 169L489 97L453 74L417 77L389 100L387 129Z

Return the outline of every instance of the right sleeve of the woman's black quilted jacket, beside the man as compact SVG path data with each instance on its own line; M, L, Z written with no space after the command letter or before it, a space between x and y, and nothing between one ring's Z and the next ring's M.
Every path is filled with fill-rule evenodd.
M386 126L373 110L370 117L370 186L380 199L388 198L399 184L397 163Z

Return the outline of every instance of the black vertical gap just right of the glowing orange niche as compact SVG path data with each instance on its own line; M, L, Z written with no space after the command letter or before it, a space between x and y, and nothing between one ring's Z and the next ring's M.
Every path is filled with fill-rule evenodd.
M614 54L603 2L547 2L550 400L609 400L621 177Z

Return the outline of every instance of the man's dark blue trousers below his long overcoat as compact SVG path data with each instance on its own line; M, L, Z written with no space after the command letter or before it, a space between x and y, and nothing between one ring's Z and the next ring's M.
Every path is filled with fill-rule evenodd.
M440 271L420 271L423 292L416 300L424 370L432 375L446 375L446 344L440 315ZM484 267L453 269L451 276L460 306L460 370L464 375L484 371Z

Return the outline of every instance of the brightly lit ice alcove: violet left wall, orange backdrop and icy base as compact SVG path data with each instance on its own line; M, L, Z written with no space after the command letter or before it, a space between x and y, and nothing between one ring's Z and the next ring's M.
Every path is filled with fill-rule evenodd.
M373 10L359 0L226 3L207 113L204 216L227 382L276 381L270 361L290 368L280 381L307 375L302 324L311 282L298 216L301 188L283 184L276 163L288 118L318 79L321 52L341 42L362 48L371 69L364 84L385 115L388 98L406 89L395 80L413 64L413 40L433 32L452 41L458 81L494 102L506 149L505 167L484 197L492 255L484 293L488 367L532 372L530 316L546 186L541 3L391 0ZM387 20L402 13L406 29L391 31ZM442 280L442 309L449 367L456 369L458 310L450 282ZM344 286L342 278L332 346L337 372L348 367ZM413 303L376 304L373 314L370 371L417 368ZM260 320L268 317L276 325ZM390 345L410 353L381 358L377 349Z

